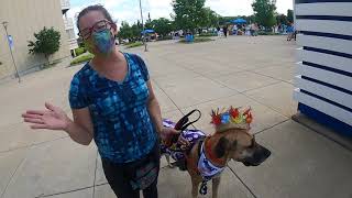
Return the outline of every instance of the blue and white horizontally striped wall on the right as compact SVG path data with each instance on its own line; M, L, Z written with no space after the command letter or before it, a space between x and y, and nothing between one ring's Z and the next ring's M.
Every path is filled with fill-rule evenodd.
M352 136L352 0L295 0L298 110Z

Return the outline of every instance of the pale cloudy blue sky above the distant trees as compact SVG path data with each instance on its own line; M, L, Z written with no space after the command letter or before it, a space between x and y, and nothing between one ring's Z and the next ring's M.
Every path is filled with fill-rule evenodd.
M151 19L168 18L173 13L172 0L141 0L144 19L147 13ZM206 0L206 7L210 7L220 15L250 15L253 14L253 0ZM111 13L113 20L121 24L122 21L134 23L141 19L139 0L70 0L68 16L75 15L87 6L102 4ZM293 0L276 0L278 13L287 13L287 9L293 9ZM77 31L77 30L76 30Z

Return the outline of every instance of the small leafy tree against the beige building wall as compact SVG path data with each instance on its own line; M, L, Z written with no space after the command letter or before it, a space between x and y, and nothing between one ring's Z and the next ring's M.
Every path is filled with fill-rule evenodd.
M38 33L34 33L36 41L29 41L30 54L43 54L50 65L50 56L59 50L61 33L54 28L44 26ZM45 65L44 65L45 67Z

